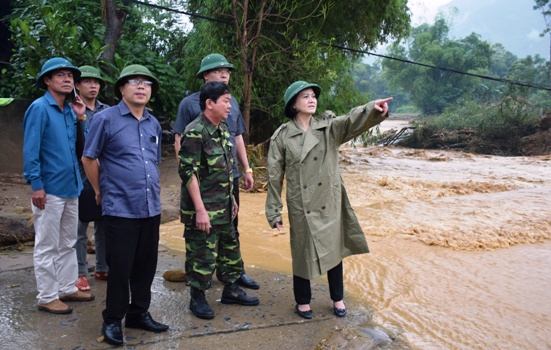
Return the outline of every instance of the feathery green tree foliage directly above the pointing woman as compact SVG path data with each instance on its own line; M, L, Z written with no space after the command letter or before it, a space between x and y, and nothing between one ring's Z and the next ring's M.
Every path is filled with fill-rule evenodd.
M319 84L323 93L318 112L335 108L344 113L358 103L352 93L350 51L327 46L342 45L353 49L372 48L391 36L400 37L409 30L409 13L404 0L351 0L338 5L322 1L234 1L190 0L187 10L225 21L228 24L192 19L183 70L196 72L203 56L218 52L236 67L230 85L250 111L249 132L273 131L283 116L282 97L296 80ZM245 4L248 5L246 11ZM354 21L350 14L354 13ZM253 74L247 90L247 75ZM186 87L199 87L201 81L188 74ZM336 97L336 93L340 93ZM342 100L345 102L339 102ZM363 103L363 101L361 101ZM266 124L266 120L270 122ZM261 126L261 127L260 127ZM251 136L257 142L265 135Z

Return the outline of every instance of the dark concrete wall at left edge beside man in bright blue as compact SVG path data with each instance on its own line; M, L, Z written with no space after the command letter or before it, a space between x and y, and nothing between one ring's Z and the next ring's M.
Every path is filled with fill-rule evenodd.
M23 173L23 117L31 102L0 107L0 173Z

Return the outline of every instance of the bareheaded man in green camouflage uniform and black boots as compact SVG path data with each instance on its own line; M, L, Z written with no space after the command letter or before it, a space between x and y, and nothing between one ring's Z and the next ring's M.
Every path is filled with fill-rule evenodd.
M186 127L178 153L189 308L203 319L214 317L205 290L215 269L224 283L222 303L254 306L260 302L237 285L243 267L232 224L238 210L232 194L234 146L228 127L222 123L228 118L230 100L226 84L209 82L203 86L199 97L202 113Z

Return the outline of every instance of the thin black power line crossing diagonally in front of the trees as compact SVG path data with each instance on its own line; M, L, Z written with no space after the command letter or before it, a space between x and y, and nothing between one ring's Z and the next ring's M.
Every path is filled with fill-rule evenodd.
M217 18L207 17L207 16L196 14L196 13L190 13L190 12L186 12L186 11L175 10L175 9L170 8L170 7L159 6L159 5L155 5L155 4L148 4L148 3L138 1L138 0L129 0L128 2L135 3L135 4L138 4L138 5L153 7L153 8L157 8L157 9L160 9L160 10L169 11L169 12L180 13L180 14L184 14L184 15L187 15L187 16L190 16L190 17L206 19L206 20L212 21L212 22L217 22L217 23L222 23L222 24L230 24L230 25L232 24L230 21L225 21L225 20L221 20L221 19L217 19ZM273 34L281 35L277 32L273 32ZM500 82L500 83L504 83L504 84L511 84L511 85L517 85L517 86L522 86L522 87L538 89L538 90L551 91L551 87L548 87L548 86L522 83L522 82L509 80L509 79L494 78L494 77L490 77L490 76L487 76L487 75L481 75L481 74L473 74L473 73L463 72L463 71L453 69L453 68L439 67L439 66L435 66L435 65L431 65L431 64L414 62L414 61L406 60L406 59L403 59L403 58L397 58L397 57L392 57L392 56L376 54L376 53L365 51L365 50L351 49L351 48L346 47L346 46L329 44L329 43L324 43L324 42L319 42L319 41L313 41L313 40L301 38L301 37L298 37L298 36L297 36L297 39L299 39L301 41L304 41L304 42L308 42L308 43L317 43L319 45L328 46L328 47L332 47L332 48L343 50L343 51L350 51L350 52L355 52L355 53L367 54L367 55L371 55L371 56L381 57L381 58L394 60L394 61L399 61L399 62L407 63L407 64L413 64L413 65L426 67L426 68L430 68L430 69L438 69L438 70L441 70L441 71L446 71L446 72L471 76L471 77L480 78L480 79L492 80L492 81L496 81L496 82Z

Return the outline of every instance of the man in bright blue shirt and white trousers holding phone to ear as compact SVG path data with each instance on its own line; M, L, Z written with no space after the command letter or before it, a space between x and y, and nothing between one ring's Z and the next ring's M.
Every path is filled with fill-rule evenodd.
M75 286L78 196L82 181L76 155L77 117L84 119L79 98L72 107L78 68L61 57L44 63L36 79L46 90L34 101L23 121L23 175L32 188L35 245L34 271L38 309L54 314L73 310L64 301L90 301L94 296Z

